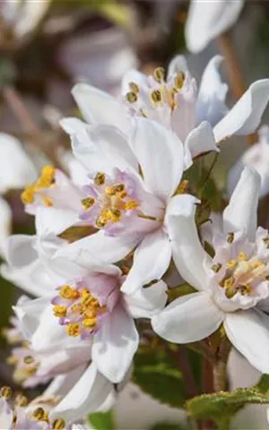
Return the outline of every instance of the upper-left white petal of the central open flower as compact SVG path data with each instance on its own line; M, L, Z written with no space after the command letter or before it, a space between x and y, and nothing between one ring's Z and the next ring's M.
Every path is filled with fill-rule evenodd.
M113 173L114 168L137 170L137 161L126 137L116 127L90 126L76 118L65 118L61 125L71 136L74 156L91 175Z

